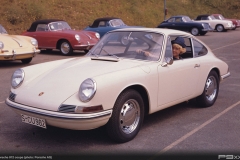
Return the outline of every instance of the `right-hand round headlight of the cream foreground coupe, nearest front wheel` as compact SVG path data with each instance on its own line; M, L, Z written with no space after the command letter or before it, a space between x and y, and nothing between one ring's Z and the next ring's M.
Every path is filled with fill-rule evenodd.
M79 88L79 98L82 102L90 101L97 90L96 82L93 79L86 79Z

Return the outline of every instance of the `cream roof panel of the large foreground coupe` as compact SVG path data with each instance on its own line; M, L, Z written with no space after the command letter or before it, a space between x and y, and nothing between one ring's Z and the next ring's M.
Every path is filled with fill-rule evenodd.
M116 31L144 31L144 32L156 32L156 33L162 33L165 35L184 35L188 37L192 37L190 33L174 30L174 29L167 29L167 28L123 28L123 29L117 29L112 30L110 32L116 32Z

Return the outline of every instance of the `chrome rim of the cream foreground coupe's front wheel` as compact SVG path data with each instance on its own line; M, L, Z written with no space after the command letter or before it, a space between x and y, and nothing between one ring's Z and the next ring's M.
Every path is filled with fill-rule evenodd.
M140 122L140 106L134 99L126 101L121 109L119 123L121 130L126 133L132 133Z

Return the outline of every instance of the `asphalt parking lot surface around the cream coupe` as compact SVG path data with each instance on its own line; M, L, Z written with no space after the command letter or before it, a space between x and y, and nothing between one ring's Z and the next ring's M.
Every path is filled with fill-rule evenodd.
M90 155L135 154L144 159L163 155L210 153L240 155L240 29L198 36L215 55L228 63L231 76L220 84L219 97L210 108L195 107L194 101L182 103L147 116L135 139L115 144L104 127L73 131L48 127L42 129L21 122L4 100L9 94L12 72L26 66L20 62L0 62L0 155ZM77 52L74 56L83 56ZM41 53L30 65L58 60L60 52ZM143 158L142 157L142 158ZM139 158L139 157L138 157ZM240 158L239 158L240 159Z

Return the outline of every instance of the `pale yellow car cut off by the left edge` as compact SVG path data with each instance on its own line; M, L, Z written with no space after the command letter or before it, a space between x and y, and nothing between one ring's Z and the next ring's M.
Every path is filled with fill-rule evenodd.
M9 35L0 24L0 61L21 60L30 63L40 53L35 38L21 35Z

